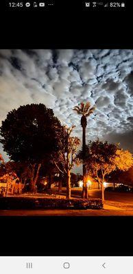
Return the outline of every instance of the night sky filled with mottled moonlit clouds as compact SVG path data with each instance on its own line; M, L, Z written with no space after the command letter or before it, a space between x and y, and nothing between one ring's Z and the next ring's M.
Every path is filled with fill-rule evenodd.
M133 152L133 49L0 50L0 125L10 110L44 103L82 138L73 111L82 101L96 107L86 140L120 142ZM0 153L8 160L1 145Z

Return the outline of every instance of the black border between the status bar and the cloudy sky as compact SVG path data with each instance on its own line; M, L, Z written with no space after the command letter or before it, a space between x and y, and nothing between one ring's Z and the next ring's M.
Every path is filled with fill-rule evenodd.
M58 1L58 0L57 0ZM81 0L82 1L82 0ZM132 9L125 12L3 12L3 49L132 48Z

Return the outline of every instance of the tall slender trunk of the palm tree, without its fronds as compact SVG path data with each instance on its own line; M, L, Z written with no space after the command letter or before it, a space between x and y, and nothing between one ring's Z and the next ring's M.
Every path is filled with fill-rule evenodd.
M85 117L86 118L86 117ZM83 135L82 135L82 151L83 151L83 190L82 190L82 198L88 198L88 190L86 185L86 125L82 125Z

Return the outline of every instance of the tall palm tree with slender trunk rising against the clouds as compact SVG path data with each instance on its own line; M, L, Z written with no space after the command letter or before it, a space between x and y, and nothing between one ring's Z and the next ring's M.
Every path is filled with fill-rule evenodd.
M95 110L95 107L90 108L90 103L80 103L80 106L75 106L73 108L77 112L77 114L82 114L81 118L81 125L82 125L82 152L83 152L83 190L82 190L82 197L88 198L88 191L87 191L87 185L86 185L86 125L87 125L87 119L86 117L90 116L90 114L93 113Z

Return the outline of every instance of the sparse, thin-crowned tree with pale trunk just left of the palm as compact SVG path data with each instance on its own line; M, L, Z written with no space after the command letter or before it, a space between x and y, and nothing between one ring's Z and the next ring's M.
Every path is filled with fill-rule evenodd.
M80 145L80 139L71 137L73 127L64 127L62 129L62 138L60 138L60 150L53 162L56 164L58 170L66 175L66 199L71 198L71 169L76 158L77 147Z

